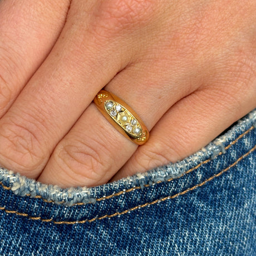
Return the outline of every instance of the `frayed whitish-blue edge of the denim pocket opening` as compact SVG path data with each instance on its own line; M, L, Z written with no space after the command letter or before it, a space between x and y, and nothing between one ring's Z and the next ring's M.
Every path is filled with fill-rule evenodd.
M53 201L56 204L73 205L76 203L94 203L96 198L106 191L114 190L116 193L119 190L129 189L135 186L144 188L145 185L152 185L159 181L167 181L171 178L178 178L191 167L200 164L206 159L214 159L222 152L225 153L225 144L237 136L237 132L244 131L248 126L256 127L256 109L250 112L243 119L238 121L238 124L232 127L224 135L210 142L206 147L199 150L195 154L187 157L177 163L158 166L146 173L137 173L133 176L115 181L94 188L77 187L62 189L57 185L46 185L37 182L33 179L28 179L18 173L13 173L11 170L0 168L0 182L7 186L18 196L29 195L32 198L37 196L42 197L47 201Z

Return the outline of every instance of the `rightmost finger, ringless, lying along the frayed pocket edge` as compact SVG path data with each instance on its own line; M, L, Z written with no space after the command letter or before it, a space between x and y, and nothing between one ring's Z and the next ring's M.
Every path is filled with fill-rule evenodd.
M184 159L256 107L255 90L221 92L220 87L196 91L171 107L152 129L151 140L136 150L111 181Z

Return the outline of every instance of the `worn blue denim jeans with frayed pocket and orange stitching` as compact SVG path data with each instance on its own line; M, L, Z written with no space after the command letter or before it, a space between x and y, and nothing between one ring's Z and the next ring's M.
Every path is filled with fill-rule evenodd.
M255 126L256 110L179 163L95 188L0 169L0 255L256 255Z

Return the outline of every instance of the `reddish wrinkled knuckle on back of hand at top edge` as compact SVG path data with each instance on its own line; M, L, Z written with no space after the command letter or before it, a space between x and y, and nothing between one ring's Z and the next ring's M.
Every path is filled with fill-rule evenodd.
M108 0L102 1L95 11L96 24L107 32L120 32L149 22L154 13L155 1L152 0Z

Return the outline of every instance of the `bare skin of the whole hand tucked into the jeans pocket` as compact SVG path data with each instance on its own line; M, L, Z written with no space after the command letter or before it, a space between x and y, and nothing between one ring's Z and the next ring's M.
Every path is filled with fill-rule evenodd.
M0 2L0 165L96 186L178 161L256 107L254 0ZM150 130L137 146L92 100Z

